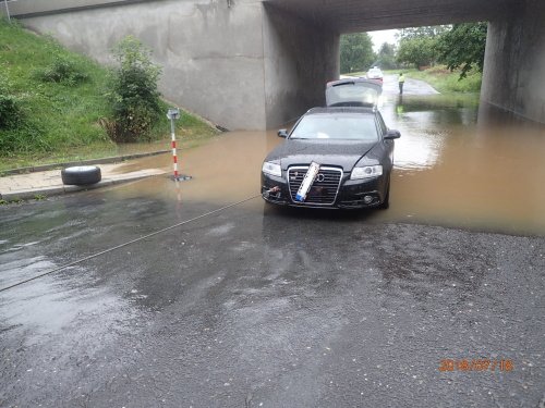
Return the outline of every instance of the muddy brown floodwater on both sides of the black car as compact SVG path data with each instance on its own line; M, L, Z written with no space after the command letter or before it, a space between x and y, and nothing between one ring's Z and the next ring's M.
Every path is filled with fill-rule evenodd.
M474 99L414 97L386 100L396 141L390 209L366 222L415 222L511 234L545 235L545 128L483 124ZM134 194L225 205L259 193L264 157L282 139L270 132L231 132L181 151L177 188L166 178L140 183ZM170 154L124 170L171 168ZM126 190L125 190L126 193ZM173 195L173 193L175 193ZM251 207L264 207L259 198ZM367 212L367 215L370 212Z

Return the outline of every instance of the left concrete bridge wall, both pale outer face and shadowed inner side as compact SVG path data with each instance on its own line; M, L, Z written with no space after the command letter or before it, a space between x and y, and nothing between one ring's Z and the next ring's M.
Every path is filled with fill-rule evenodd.
M324 103L338 76L337 33L262 1L37 1L12 5L26 27L107 64L116 42L140 38L164 67L164 96L230 129L286 123Z

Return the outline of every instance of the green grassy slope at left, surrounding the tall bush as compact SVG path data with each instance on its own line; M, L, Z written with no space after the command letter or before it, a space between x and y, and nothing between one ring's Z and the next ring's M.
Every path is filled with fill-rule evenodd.
M66 70L72 71L65 81L51 75ZM170 123L166 118L154 127L156 141L116 145L108 138L99 125L99 119L109 113L105 98L108 75L106 67L55 39L0 18L0 102L16 104L15 113L5 115L0 103L0 119L11 122L0 128L0 172L168 149ZM165 101L165 112L168 107ZM177 121L177 136L184 147L199 145L218 133L186 112Z

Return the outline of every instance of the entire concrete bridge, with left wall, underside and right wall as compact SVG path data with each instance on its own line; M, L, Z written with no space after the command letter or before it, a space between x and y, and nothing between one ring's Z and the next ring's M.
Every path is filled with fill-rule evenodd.
M227 128L278 126L324 103L342 33L488 21L482 100L545 123L541 0L19 0L37 32L111 63L129 34L154 50L161 91Z

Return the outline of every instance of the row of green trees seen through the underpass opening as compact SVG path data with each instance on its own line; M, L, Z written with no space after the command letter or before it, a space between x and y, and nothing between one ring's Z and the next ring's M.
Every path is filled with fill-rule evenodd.
M398 46L383 44L373 51L367 33L348 34L340 39L341 73L398 67L423 69L445 64L460 69L460 78L472 69L483 71L487 23L463 23L443 26L404 28L398 34Z

